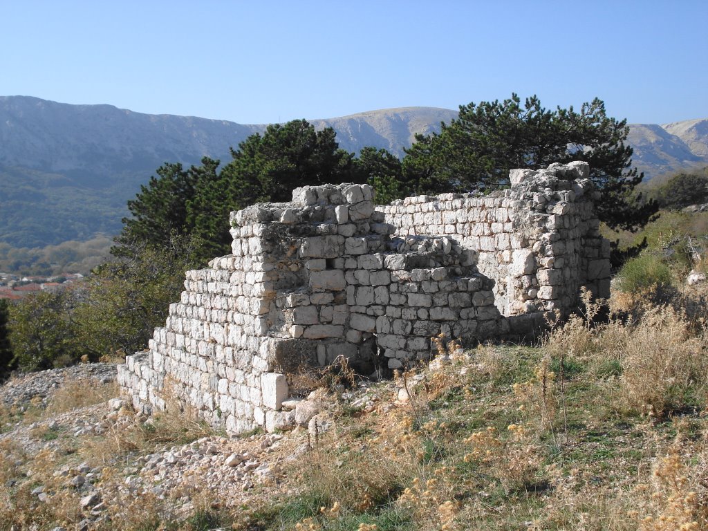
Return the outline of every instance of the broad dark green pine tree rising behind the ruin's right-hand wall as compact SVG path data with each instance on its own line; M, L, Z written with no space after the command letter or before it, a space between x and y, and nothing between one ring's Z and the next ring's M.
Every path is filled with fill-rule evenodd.
M632 168L627 120L607 117L598 98L576 111L542 107L536 96L461 105L439 134L417 135L406 149L403 180L416 193L471 191L507 185L510 169L553 162L590 164L602 193L598 215L613 229L634 230L656 213L656 202L632 194L642 175Z

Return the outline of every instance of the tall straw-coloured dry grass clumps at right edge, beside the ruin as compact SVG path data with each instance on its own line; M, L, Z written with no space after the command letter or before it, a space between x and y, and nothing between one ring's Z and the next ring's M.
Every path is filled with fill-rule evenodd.
M556 358L590 366L596 375L616 371L616 398L634 411L666 416L705 404L708 374L704 329L673 306L644 308L636 321L611 319L593 326L573 316L552 331L545 348Z

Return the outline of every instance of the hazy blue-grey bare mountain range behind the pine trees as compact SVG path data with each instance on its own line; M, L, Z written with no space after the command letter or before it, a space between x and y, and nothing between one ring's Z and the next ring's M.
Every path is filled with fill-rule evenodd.
M309 120L333 127L341 147L384 147L402 155L457 111L415 107ZM147 115L112 105L69 105L0 96L0 242L34 247L116 234L126 202L164 162L230 160L265 125ZM653 177L708 165L708 119L632 125L634 164Z

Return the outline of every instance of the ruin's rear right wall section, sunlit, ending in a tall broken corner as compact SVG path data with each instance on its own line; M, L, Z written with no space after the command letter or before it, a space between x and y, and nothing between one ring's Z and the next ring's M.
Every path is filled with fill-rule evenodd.
M513 170L513 186L486 196L446 193L377 207L396 236L445 235L476 253L503 316L576 309L580 288L610 296L610 247L586 163Z

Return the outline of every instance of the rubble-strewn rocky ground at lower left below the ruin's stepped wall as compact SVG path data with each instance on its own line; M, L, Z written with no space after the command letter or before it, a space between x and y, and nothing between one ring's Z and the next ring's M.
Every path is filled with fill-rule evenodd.
M362 410L379 401L366 386L341 396ZM188 515L198 504L237 508L292 493L297 481L284 477L284 465L332 421L321 392L285 404L299 425L287 433L229 438L195 420L154 421L118 396L110 364L13 377L0 386L0 404L0 489L11 498L4 510L24 503L35 516L47 513L2 530L110 528L130 519L137 501Z

